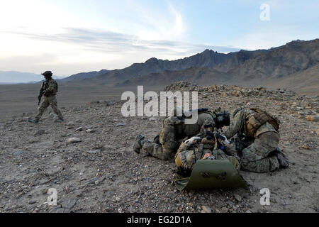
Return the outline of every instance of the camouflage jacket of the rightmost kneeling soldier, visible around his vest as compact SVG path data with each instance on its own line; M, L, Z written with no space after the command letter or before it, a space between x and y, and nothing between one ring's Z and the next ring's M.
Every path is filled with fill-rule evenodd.
M257 113L251 109L242 109L241 111L238 111L238 113L234 116L233 121L230 123L228 130L225 131L224 135L227 138L233 138L233 136L237 133L245 134L245 126L247 124L247 119L250 118L250 116L253 116L254 114ZM274 126L266 122L257 129L256 133L254 133L254 138L257 138L260 134L266 133L268 131L276 132Z

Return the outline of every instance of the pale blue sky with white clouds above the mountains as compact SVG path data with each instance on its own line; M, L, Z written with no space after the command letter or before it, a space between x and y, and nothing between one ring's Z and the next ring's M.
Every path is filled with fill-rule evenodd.
M318 11L318 0L1 0L0 70L68 76L206 48L272 48L319 38Z

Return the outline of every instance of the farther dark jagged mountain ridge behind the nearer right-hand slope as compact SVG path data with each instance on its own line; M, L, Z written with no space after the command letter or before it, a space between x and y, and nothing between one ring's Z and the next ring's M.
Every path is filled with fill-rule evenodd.
M204 50L201 53L191 57L184 57L179 60L159 60L155 57L150 58L144 63L134 63L122 70L111 70L103 72L87 72L74 74L62 79L62 82L84 82L84 83L104 83L116 85L125 83L126 80L136 77L147 76L148 74L162 73L165 71L181 71L191 67L214 68L220 72L228 72L242 62L249 60L261 53L269 50L240 50L239 52L230 52L228 54L219 53L213 50ZM173 79L174 80L174 79Z

